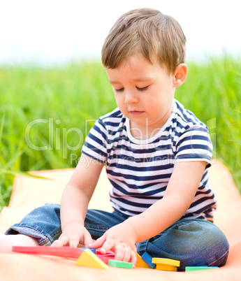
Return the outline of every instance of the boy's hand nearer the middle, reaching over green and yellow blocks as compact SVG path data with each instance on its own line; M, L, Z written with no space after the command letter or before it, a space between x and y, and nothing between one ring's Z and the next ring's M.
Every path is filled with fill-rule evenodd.
M102 254L109 250L115 252L115 259L119 261L130 261L136 266L137 257L135 252L136 235L128 223L123 222L112 226L105 231L103 236L98 238L94 243L89 244L90 248L100 248Z

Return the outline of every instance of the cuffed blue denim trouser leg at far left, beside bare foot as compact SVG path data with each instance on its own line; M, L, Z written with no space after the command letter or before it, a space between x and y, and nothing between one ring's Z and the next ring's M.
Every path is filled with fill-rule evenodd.
M24 234L36 238L39 245L51 245L61 234L59 204L46 203L32 210L5 234Z

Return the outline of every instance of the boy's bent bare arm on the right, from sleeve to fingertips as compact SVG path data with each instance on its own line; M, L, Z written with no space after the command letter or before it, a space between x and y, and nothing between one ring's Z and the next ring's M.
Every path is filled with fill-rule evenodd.
M147 240L177 222L188 210L205 171L205 161L175 164L163 199L145 212L112 227L91 247L102 247L102 252L115 250L116 259L135 264L135 243Z

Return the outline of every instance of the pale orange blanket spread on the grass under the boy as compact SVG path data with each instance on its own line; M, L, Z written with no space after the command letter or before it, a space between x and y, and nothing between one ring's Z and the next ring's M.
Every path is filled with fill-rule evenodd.
M44 203L59 203L61 192L73 169L38 171L51 180L17 176L8 207L0 214L0 232L19 222L33 208ZM231 249L226 266L209 271L190 273L157 271L147 268L122 269L75 266L72 259L29 254L0 254L0 280L240 280L241 276L241 196L227 168L219 161L210 168L210 183L217 196L214 222L224 231ZM89 208L111 210L108 182L101 173Z

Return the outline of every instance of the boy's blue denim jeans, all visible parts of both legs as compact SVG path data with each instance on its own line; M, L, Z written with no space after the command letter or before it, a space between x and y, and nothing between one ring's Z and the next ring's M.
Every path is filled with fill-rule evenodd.
M85 227L96 239L125 219L115 211L88 210ZM37 238L39 245L51 245L61 234L60 206L48 203L36 208L6 231L17 233ZM224 266L229 245L224 233L212 222L180 219L159 235L136 243L136 249L140 255L147 252L152 257L177 259L181 261L178 270L184 271L185 266Z

